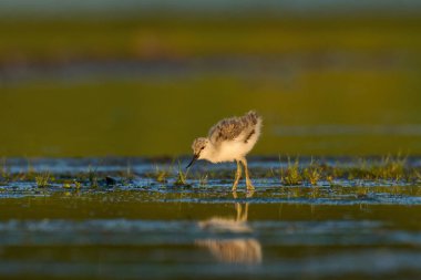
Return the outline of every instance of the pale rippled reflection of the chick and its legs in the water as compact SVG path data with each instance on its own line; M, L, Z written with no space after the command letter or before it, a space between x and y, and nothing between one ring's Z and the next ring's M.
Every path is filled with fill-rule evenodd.
M235 199L237 194L233 193ZM247 197L251 197L248 193ZM237 217L227 219L213 217L199 222L199 227L214 234L247 235L253 232L253 228L247 224L248 203L236 203ZM196 240L196 245L207 248L210 253L222 262L258 265L261 262L261 245L256 238L209 238Z

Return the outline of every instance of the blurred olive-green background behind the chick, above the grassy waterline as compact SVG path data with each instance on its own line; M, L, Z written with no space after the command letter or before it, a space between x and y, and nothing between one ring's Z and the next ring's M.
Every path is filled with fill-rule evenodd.
M317 2L317 3L315 3ZM0 156L421 154L418 1L0 1Z

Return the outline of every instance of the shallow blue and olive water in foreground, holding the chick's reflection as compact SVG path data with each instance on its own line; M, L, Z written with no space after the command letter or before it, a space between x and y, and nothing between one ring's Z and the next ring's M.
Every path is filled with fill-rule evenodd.
M421 272L421 185L338 178L284 186L250 164L255 193L233 194L230 165L201 166L187 185L156 182L167 160L37 159L50 170L0 187L0 277L101 279L414 279ZM347 159L332 160L351 165ZM410 160L418 166L419 160ZM24 172L10 159L9 172ZM99 186L63 187L89 166ZM55 167L55 168L54 168ZM196 178L207 170L206 184ZM173 173L176 173L173 170ZM195 174L195 176L193 176ZM112 176L106 184L104 176ZM222 178L217 178L220 175Z

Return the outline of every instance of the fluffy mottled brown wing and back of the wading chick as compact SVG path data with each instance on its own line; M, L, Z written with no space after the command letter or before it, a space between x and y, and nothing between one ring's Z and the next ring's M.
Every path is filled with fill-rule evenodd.
M218 145L223 141L247 142L254 134L257 117L255 112L249 112L242 117L225 118L210 128L208 138L214 145Z

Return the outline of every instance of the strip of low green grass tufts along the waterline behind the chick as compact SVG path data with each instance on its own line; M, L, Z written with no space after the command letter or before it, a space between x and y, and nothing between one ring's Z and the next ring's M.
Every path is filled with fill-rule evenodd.
M250 170L258 179L259 185L273 186L299 186L307 188L311 186L335 186L335 185L407 185L421 183L421 169L417 160L411 159L408 162L403 157L370 157L370 158L350 158L347 163L324 162L321 158L287 158L280 162L281 167L277 167L277 163L273 162L269 165L253 165ZM347 159L348 160L348 159ZM255 160L253 160L255 163ZM212 182L219 182L220 184L228 184L233 179L233 172L226 167L201 166L201 169L185 172L182 168L182 163L178 162L178 167L174 166L174 162L162 163L151 168L141 168L144 172L140 173L133 179L133 173L126 170L126 166L121 166L117 170L101 170L101 167L89 166L86 170L76 173L57 173L50 172L50 182L54 180L58 186L75 187L79 188L82 184L91 187L110 187L110 186L133 186L136 184L174 184L174 185L188 185L187 177L192 179L194 185L205 186ZM28 170L28 168L23 168ZM30 172L34 170L32 167ZM38 169L38 167L37 167ZM28 176L25 172L20 168L13 167L14 173L11 172L11 166L0 167L0 180L2 185L10 183L25 183L25 182L40 182L41 184L43 173L34 173ZM19 170L19 172L17 172ZM54 175L52 177L51 175ZM153 180L147 180L152 178ZM141 183L142 182L142 183ZM320 185L322 184L322 185Z

